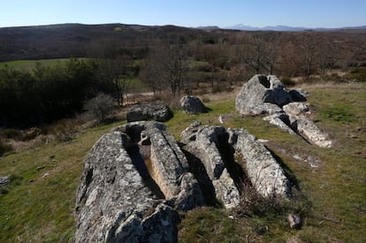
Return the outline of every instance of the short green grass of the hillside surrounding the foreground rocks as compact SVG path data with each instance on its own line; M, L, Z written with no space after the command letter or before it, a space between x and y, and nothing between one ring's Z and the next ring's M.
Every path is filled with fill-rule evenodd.
M284 214L237 216L220 208L194 209L179 224L181 242L366 241L366 86L304 89L310 93L316 124L331 134L334 148L309 145L262 118L241 118L234 111L233 98L208 102L211 111L197 116L174 110L174 118L165 124L176 138L194 120L218 124L219 114L233 113L226 126L244 127L257 138L269 140L266 146L296 178L301 206L307 210L301 230L292 230ZM124 123L86 129L74 140L54 141L0 158L0 175L14 178L5 188L7 194L0 195L0 242L72 242L84 156L103 133ZM318 164L310 166L295 155L315 156Z

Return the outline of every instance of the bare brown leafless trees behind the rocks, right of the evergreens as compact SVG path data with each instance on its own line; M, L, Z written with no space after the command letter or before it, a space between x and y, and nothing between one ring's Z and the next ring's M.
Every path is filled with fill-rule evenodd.
M313 74L325 75L349 65L356 49L362 51L362 42L339 41L312 32L239 32L210 42L181 40L150 42L140 78L154 91L169 90L176 95L198 87L200 82L225 87L228 82L247 80L255 73L309 79Z

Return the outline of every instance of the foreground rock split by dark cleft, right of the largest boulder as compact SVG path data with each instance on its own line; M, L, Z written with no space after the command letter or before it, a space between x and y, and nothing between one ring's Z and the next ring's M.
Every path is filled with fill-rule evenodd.
M247 131L194 123L180 137L185 143L184 149L202 163L217 200L225 208L239 204L241 186L247 179L263 196L290 195L289 181L276 159ZM243 161L237 162L239 157ZM240 164L246 164L246 167L242 168ZM245 178L246 174L248 178Z

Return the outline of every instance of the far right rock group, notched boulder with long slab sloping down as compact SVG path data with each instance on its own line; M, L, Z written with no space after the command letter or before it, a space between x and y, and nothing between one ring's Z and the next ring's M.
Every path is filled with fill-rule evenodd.
M287 91L274 75L255 75L241 87L235 107L243 115L268 115L264 120L322 148L332 147L329 135L309 118L309 104L297 90Z

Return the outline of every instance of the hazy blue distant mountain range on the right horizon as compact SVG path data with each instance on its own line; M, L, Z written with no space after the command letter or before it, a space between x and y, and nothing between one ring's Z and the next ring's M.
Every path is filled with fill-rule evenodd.
M315 30L315 31L332 31L338 29L366 29L366 26L361 27L339 27L339 28L308 28L308 27L288 27L288 26L274 26L274 27L250 27L243 24L235 25L232 27L223 27L224 29L236 29L236 30L247 30L247 31L304 31L304 30Z

